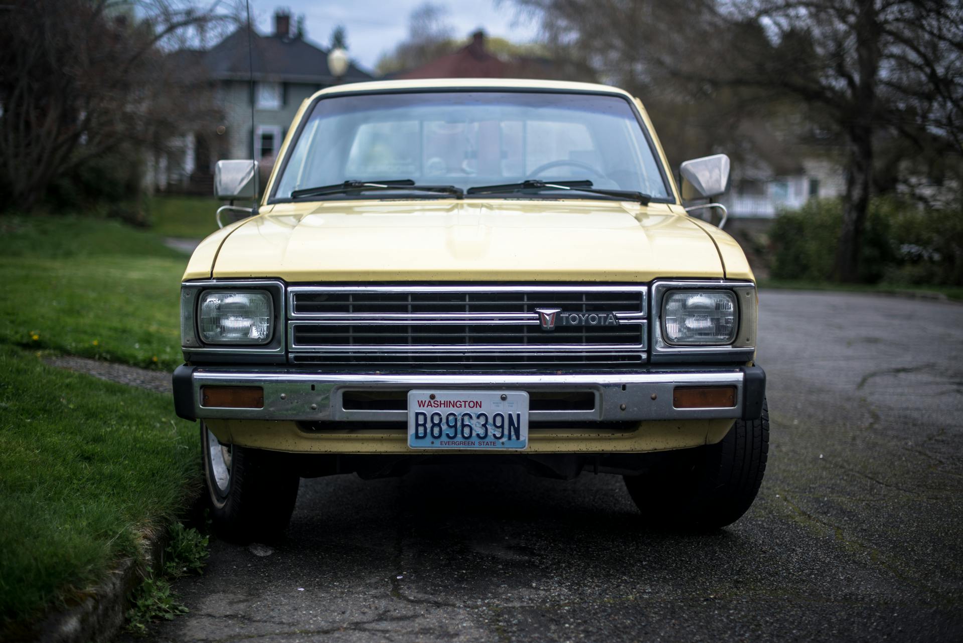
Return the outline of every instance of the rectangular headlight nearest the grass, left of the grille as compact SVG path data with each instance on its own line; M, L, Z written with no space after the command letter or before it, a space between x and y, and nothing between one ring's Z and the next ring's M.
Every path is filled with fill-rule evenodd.
M205 344L267 344L273 303L267 291L204 291L197 304Z

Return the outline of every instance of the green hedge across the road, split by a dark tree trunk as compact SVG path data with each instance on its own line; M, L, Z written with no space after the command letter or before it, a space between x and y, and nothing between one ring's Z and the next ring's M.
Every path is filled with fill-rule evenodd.
M843 224L839 199L812 200L783 213L769 232L773 279L825 281ZM870 204L860 248L860 281L963 284L963 208L924 210L893 197Z

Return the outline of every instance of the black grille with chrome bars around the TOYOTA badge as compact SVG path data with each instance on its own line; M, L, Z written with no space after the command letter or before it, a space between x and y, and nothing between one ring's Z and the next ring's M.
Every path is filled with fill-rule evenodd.
M319 368L630 368L645 361L646 294L644 286L293 287L289 356ZM608 313L616 323L547 330L539 308Z

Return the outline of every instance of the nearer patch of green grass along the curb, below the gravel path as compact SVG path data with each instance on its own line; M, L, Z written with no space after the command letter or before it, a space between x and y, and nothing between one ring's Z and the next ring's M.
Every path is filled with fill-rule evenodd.
M196 432L167 396L0 345L0 622L81 596L181 511Z

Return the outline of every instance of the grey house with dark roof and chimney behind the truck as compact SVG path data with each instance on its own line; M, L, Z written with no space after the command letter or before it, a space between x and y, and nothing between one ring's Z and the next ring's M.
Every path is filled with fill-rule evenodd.
M339 82L372 79L354 64L335 78L327 67L328 50L293 30L290 13L274 13L273 27L268 36L251 30L249 40L247 26L240 27L210 49L171 54L178 64L201 72L216 116L171 142L155 164L157 189L212 193L215 164L249 159L252 150L262 174L270 172L302 100Z

